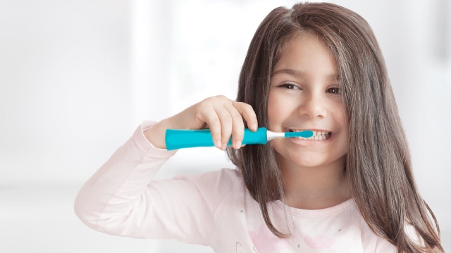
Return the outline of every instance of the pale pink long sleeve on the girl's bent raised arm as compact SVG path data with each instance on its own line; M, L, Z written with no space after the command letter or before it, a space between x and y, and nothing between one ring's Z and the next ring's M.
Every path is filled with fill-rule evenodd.
M215 188L221 173L152 181L176 152L147 141L143 131L152 124L143 122L82 186L75 198L75 214L90 228L111 235L209 245L214 212L233 184Z

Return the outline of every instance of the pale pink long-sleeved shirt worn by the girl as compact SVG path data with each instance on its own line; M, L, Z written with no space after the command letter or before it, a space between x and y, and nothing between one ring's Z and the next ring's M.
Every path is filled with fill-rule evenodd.
M282 240L268 230L237 169L152 181L176 153L147 141L143 132L152 124L143 122L80 189L75 213L90 228L208 245L215 252L396 252L370 230L353 200L319 210L268 203L276 228L292 233Z

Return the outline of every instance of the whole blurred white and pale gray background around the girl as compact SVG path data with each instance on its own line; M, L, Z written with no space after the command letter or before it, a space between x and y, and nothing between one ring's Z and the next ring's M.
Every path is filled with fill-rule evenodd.
M257 26L295 2L0 0L0 252L213 252L93 231L75 195L143 120L235 99ZM451 250L450 1L331 2L376 34L416 181ZM233 167L221 150L179 150L156 179L221 167Z

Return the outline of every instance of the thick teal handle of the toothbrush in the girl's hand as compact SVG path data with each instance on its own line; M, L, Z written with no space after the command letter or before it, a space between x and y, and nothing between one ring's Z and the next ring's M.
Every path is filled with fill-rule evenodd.
M175 150L179 148L195 148L195 147L213 147L213 138L211 138L210 129L202 130L178 130L167 129L164 136L167 150ZM245 144L265 144L266 128L260 127L256 132L245 129L245 136L242 145ZM232 138L228 141L228 145L232 145Z

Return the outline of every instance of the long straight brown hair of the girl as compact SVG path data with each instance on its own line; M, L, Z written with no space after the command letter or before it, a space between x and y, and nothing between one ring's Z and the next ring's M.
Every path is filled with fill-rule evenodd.
M319 37L338 65L349 129L344 172L360 214L376 235L399 252L443 252L438 223L416 188L381 49L360 15L325 3L295 4L291 9L271 11L249 45L237 101L252 105L260 126L268 126L273 67L284 48L302 32ZM268 215L267 203L283 198L282 174L271 145L228 148L227 154L240 169L249 194L259 202L268 228L278 238L287 238L289 235L278 231ZM421 236L424 247L409 237L407 225Z

